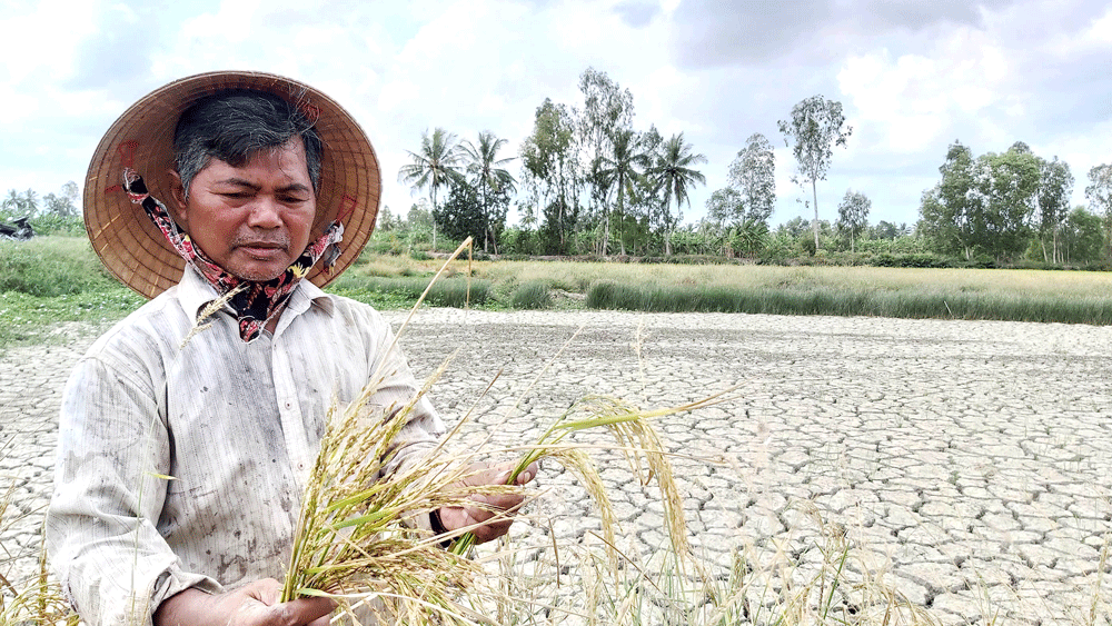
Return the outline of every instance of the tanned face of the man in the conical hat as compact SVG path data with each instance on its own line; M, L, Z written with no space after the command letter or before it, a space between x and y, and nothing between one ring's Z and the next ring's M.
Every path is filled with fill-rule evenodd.
M317 201L300 138L259 150L244 167L211 159L193 177L188 200L173 176L179 223L229 274L277 278L308 246Z

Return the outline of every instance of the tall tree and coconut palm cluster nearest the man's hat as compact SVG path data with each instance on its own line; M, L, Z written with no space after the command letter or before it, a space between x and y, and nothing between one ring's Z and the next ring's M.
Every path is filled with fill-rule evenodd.
M503 157L506 140L490 131L475 142L443 128L421 136L398 180L428 193L434 239L473 236L497 252L516 195L516 238L532 239L534 254L588 251L585 244L603 256L657 245L671 254L683 206L706 182L695 169L706 157L683 132L665 139L655 126L634 130L633 95L604 72L587 69L579 90L582 108L550 99L537 108L516 156ZM513 160L518 177L507 169Z

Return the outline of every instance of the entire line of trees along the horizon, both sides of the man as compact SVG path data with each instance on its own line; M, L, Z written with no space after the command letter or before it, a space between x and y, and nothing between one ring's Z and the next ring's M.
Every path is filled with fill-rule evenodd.
M842 103L813 96L777 122L795 161L792 181L813 209L771 228L776 203L772 142L753 133L727 169L726 187L706 201L706 217L683 225L691 192L705 185L706 165L683 132L664 138L655 125L634 128L634 100L605 72L579 76L582 103L545 99L533 130L516 151L493 131L474 141L437 127L426 130L398 180L427 195L409 211L379 216L383 235L410 244L474 237L485 251L515 255L699 255L749 257L771 262L797 257L936 255L996 265L1024 259L1044 264L1112 262L1112 165L1089 172L1088 207L1071 207L1070 166L1016 142L1002 153L975 156L955 141L941 180L923 192L916 223L870 225L872 200L847 189L834 220L821 219L817 185L835 149L853 128ZM807 193L810 191L810 193ZM807 198L806 196L810 196ZM507 225L512 206L520 223ZM10 190L0 218L30 217L36 231L80 228L78 186L58 193ZM836 261L836 259L834 259Z

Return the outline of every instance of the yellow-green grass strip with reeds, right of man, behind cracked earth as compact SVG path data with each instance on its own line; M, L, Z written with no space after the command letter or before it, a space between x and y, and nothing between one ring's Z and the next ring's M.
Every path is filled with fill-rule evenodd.
M430 277L440 261L373 256L357 271ZM456 271L466 271L457 264ZM534 308L540 285L586 306L644 311L1112 324L1112 274L1012 269L476 261L487 306ZM528 287L527 287L528 286ZM574 301L554 299L556 309Z

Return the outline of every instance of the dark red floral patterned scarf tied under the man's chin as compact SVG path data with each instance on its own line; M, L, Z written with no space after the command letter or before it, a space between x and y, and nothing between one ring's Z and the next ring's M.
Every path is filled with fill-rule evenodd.
M200 271L217 294L222 297L242 287L228 300L228 304L236 311L239 336L246 342L254 341L262 334L267 321L281 311L298 281L309 274L309 268L317 262L317 259L324 257L325 274L331 274L332 266L340 256L339 242L344 239L344 225L337 218L280 276L265 282L244 280L228 274L205 256L200 248L193 246L189 235L170 217L166 205L153 198L147 190L142 177L130 169L123 170L123 190L131 202L140 205L147 211L147 216L162 231L173 249L186 259L187 264Z

